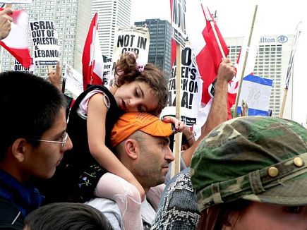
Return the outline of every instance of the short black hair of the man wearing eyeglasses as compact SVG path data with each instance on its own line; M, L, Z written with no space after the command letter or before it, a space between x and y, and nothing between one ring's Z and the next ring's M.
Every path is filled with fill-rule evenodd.
M16 139L40 139L66 107L62 93L47 80L14 71L0 73L0 104L0 161Z

